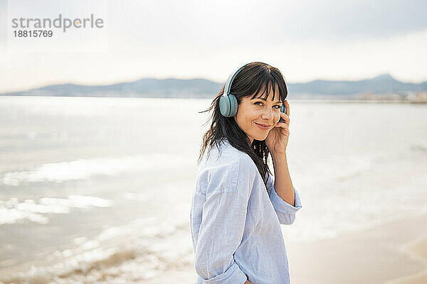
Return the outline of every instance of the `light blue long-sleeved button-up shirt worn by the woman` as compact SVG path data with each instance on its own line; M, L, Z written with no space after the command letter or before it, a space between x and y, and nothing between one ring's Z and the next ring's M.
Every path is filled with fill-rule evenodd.
M221 155L211 148L199 165L190 211L196 284L290 283L288 256L280 224L292 224L295 207L267 190L248 154L225 140ZM267 176L266 175L266 176Z

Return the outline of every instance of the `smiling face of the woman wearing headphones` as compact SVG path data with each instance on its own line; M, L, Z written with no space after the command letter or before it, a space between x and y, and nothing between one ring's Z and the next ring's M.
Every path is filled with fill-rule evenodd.
M243 97L241 104L238 105L237 114L234 116L238 126L246 133L248 138L263 141L268 133L274 128L280 119L280 107L282 102L279 99L278 88L276 88L275 99L273 102L273 89L270 89L267 100L265 94L260 94L251 99ZM261 127L261 126L267 127Z

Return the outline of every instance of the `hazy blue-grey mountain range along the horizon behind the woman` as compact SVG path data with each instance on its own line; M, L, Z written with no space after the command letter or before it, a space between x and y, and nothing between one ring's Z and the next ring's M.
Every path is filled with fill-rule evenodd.
M71 96L71 97L212 97L223 83L205 79L154 79L145 78L135 82L88 86L81 84L55 84L22 92L9 92L0 95L14 96ZM371 92L427 91L427 82L421 84L405 83L384 74L369 80L327 81L315 80L307 83L288 84L288 92L297 98L302 94L349 95Z

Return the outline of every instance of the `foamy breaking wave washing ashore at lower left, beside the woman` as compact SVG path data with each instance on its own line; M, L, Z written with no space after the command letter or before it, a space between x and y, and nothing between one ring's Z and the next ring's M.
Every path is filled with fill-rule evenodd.
M102 231L91 240L76 238L72 249L46 258L51 265L2 273L0 283L130 283L155 278L193 261L189 224L171 222L159 224L148 217Z

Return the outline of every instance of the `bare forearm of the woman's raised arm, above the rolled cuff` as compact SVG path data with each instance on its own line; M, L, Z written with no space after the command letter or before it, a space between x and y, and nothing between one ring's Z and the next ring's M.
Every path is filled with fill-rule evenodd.
M272 155L274 166L274 188L278 195L295 206L295 192L290 180L286 154Z

